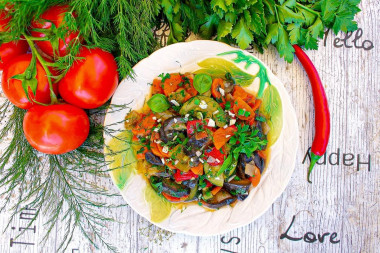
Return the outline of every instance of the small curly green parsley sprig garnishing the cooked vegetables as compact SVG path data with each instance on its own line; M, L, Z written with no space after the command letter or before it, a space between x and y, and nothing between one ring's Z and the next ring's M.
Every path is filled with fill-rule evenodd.
M268 141L258 129L250 129L249 125L237 125L237 132L231 137L231 150L234 158L238 159L239 154L244 153L248 157L252 156L253 152L262 150L267 145Z

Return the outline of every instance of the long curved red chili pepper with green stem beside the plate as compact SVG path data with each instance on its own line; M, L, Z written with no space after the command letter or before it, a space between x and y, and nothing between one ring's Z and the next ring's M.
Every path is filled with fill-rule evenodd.
M327 144L330 138L330 111L327 102L325 89L314 64L306 53L297 45L293 45L298 60L304 67L309 76L314 98L315 110L315 135L313 145L311 146L311 161L309 171L307 173L307 181L310 181L310 174L315 163L325 154Z

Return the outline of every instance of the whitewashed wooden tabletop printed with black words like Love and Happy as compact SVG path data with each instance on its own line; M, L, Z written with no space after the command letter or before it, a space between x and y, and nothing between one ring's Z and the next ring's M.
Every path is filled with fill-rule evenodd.
M117 245L120 252L379 252L380 1L363 0L360 7L362 12L357 21L362 37L356 41L356 46L352 42L355 33L344 42L338 39L343 39L344 34L333 36L330 32L318 51L307 52L324 82L332 120L326 163L314 169L312 185L306 181L308 160L303 163L312 143L314 126L307 76L298 61L287 64L273 48L263 55L253 52L283 81L298 116L300 149L295 172L285 192L249 226L214 237L167 233L150 225L131 208L120 208L110 212L122 223L110 223L103 229L110 242ZM364 47L373 43L372 50L357 48L365 40L368 41ZM103 184L114 187L111 180ZM123 200L120 198L119 202ZM8 215L0 213L1 231ZM287 235L302 239L280 239L293 217ZM63 236L63 231L58 224L46 245L41 245L42 217L33 224L32 230L12 244L26 223L25 219L16 219L0 234L0 253L56 251L56 239ZM320 242L318 234L324 233L329 234ZM317 241L310 243L314 235ZM305 242L308 239L309 242ZM94 249L78 232L68 252L106 250Z

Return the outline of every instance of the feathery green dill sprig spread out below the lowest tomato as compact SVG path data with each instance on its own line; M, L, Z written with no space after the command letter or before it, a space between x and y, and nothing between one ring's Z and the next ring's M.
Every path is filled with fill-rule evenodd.
M91 244L101 244L116 251L101 234L101 228L114 220L102 215L101 209L124 205L108 204L110 197L120 195L91 183L96 178L108 177L102 152L104 127L94 120L104 110L89 113L92 115L89 138L77 150L63 155L44 155L29 145L22 130L25 112L8 101L0 106L0 120L6 122L0 130L0 140L10 137L9 145L0 155L0 195L5 199L0 211L11 211L7 227L27 205L37 210L29 226L41 215L47 220L43 243L59 222L65 234L58 251L66 250L76 230L80 230ZM11 201L14 195L17 199Z

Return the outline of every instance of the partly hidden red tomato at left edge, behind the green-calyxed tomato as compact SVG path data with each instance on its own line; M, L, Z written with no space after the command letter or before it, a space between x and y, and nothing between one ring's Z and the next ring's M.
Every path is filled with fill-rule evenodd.
M0 70L4 65L18 55L26 54L29 49L28 42L25 40L11 41L0 46Z

